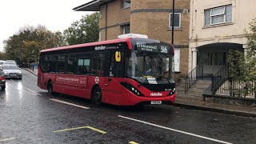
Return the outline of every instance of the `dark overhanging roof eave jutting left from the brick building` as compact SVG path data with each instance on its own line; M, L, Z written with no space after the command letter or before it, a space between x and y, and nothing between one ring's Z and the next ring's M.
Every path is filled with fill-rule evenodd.
M102 4L106 2L111 2L111 1L114 1L114 0L93 0L81 6L77 6L73 10L74 11L99 11L99 7Z

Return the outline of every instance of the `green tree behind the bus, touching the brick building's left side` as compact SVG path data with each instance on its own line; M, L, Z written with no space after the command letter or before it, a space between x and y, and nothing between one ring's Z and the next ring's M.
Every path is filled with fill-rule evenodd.
M99 14L86 14L79 21L73 22L71 26L64 30L66 42L69 45L96 42L99 33Z

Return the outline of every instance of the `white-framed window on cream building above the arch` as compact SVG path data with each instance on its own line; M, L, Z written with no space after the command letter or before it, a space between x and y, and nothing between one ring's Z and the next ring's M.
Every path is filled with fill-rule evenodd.
M232 6L221 6L205 10L205 26L232 22Z

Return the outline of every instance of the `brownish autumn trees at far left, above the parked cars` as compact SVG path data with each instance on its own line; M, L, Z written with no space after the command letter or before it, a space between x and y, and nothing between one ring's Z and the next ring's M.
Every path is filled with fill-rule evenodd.
M8 59L22 64L38 61L40 50L64 45L64 37L59 31L53 33L42 25L23 26L4 41L4 50Z

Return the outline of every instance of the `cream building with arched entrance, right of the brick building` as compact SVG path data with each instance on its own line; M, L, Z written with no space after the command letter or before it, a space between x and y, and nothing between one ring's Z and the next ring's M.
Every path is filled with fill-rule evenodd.
M212 76L229 50L243 51L255 6L255 0L191 0L189 71L203 62L204 74Z

